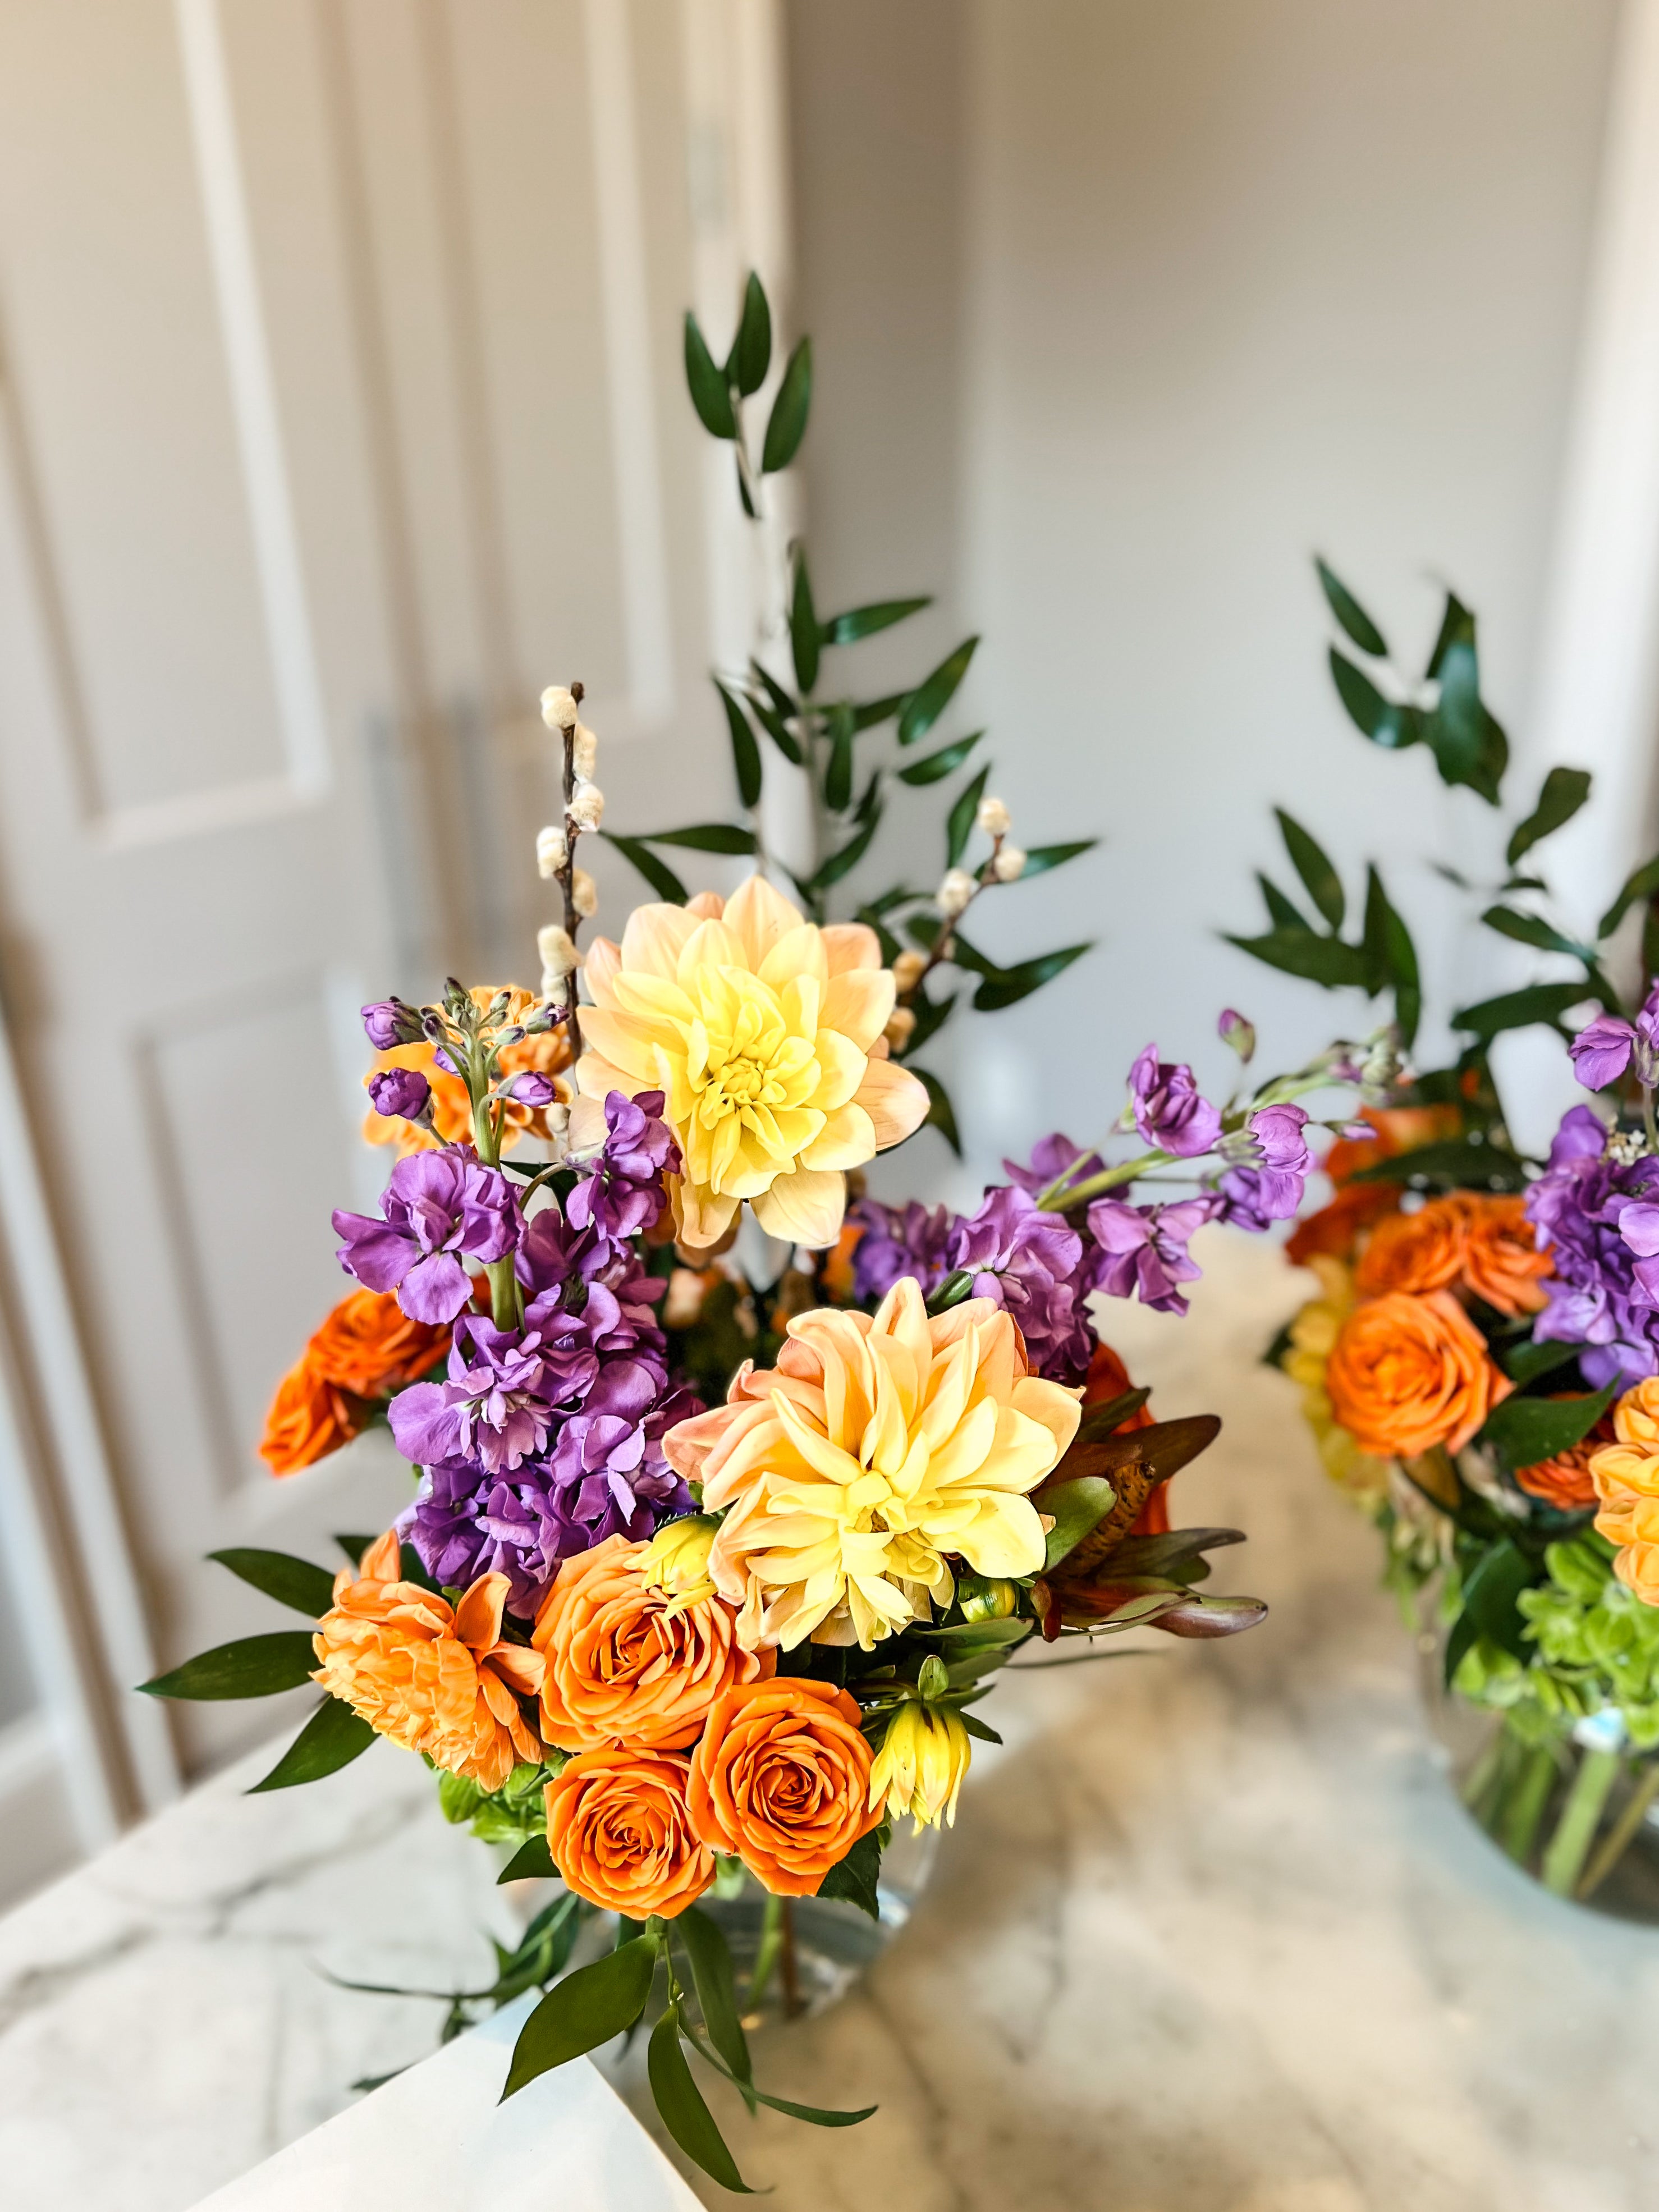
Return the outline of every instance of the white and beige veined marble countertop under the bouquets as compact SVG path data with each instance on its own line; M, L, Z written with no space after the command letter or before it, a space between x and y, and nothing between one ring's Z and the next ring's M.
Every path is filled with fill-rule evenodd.
M1256 1354L1296 1301L1210 1232L1172 1323L1113 1310L1168 1411L1225 1418L1181 1520L1252 1542L1250 1637L1004 1679L938 1874L761 2081L863 2128L728 2117L779 2212L1637 2212L1659 1933L1559 1905L1444 1792L1369 1528ZM489 1854L376 1747L243 1798L254 1756L0 1920L7 2203L181 2212L422 2055L507 1931ZM703 2185L710 2203L730 2203Z

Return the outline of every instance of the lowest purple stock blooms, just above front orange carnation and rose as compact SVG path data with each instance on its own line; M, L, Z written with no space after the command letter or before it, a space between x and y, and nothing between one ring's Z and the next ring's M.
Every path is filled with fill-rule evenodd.
M701 1402L670 1391L644 1413L615 1405L573 1413L551 1453L511 1473L440 1462L400 1515L398 1533L440 1584L465 1588L484 1573L507 1575L507 1601L529 1619L562 1559L608 1535L641 1542L659 1522L690 1511L690 1491L664 1458L661 1438L692 1413Z

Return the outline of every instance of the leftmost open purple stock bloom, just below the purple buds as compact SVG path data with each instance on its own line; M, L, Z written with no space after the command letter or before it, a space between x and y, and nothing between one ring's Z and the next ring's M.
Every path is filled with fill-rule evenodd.
M396 1290L411 1321L453 1321L471 1298L462 1254L504 1259L518 1243L518 1206L507 1177L467 1146L411 1152L392 1170L372 1214L334 1214L341 1267L365 1290Z

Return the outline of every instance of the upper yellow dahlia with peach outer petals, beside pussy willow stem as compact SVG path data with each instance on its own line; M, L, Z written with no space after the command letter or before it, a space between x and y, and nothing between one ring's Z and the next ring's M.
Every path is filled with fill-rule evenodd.
M894 978L876 933L818 929L761 876L728 900L635 907L622 945L586 956L586 1097L661 1091L684 1157L679 1241L717 1245L743 1199L772 1237L827 1245L845 1170L927 1115L922 1084L887 1057Z

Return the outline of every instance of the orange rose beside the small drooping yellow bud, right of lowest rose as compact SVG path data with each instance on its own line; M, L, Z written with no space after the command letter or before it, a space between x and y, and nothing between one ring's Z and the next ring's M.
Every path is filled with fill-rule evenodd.
M686 1805L714 1851L734 1851L774 1898L810 1898L880 1823L858 1705L803 1674L734 1683L692 1752Z

